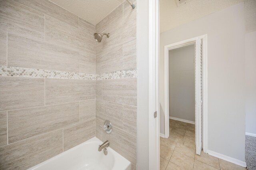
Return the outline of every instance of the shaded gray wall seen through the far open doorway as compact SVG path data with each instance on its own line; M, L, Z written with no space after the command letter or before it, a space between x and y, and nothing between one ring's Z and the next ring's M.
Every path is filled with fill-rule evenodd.
M195 121L195 45L169 51L169 116Z

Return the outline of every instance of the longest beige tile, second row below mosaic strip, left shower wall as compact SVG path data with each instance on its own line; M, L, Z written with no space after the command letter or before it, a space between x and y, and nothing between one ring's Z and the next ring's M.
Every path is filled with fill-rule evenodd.
M79 122L79 102L8 111L9 143Z

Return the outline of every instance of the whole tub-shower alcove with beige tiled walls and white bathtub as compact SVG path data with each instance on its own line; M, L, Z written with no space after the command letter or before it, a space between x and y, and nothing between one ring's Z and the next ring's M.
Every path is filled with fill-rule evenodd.
M135 4L0 0L1 170L136 169Z

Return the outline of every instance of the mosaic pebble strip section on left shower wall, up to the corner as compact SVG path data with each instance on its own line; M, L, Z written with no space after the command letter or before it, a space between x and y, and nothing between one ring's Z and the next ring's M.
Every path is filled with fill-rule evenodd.
M95 80L94 74L32 69L0 65L0 76Z

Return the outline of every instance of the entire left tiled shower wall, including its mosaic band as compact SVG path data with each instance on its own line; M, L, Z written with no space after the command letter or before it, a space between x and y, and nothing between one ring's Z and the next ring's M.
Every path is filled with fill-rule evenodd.
M0 169L95 136L95 29L48 0L0 0Z

